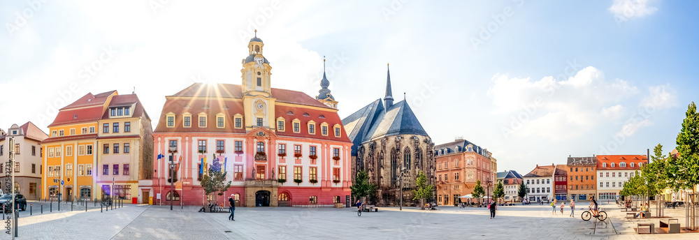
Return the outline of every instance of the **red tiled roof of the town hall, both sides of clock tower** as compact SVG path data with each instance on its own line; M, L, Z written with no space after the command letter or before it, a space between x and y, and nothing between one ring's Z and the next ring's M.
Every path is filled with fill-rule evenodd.
M186 99L186 97L194 96L211 98ZM272 89L272 96L273 98L276 98L276 103L294 104L294 106L275 105L274 118L277 119L278 117L283 117L285 119L285 131L277 131L277 135L284 137L305 137L319 140L350 142L345 133L345 129L342 127L342 120L334 109L327 107L326 105L318 102L318 100L315 100L315 98L312 98L300 91ZM241 92L240 85L196 83L178 93L175 93L175 95L171 97L185 97L185 99L168 98L166 100L158 121L158 126L155 128L154 133L245 133L245 128L234 128L235 119L233 118L233 115L235 114L245 114L243 101L225 99L242 99L243 93ZM222 100L214 99L216 97L222 98ZM313 107L321 107L322 109L326 110L319 110ZM287 114L289 111L293 112L293 114ZM175 113L175 126L173 128L166 127L166 114L168 114L168 112ZM191 127L189 128L182 126L182 114L185 112L192 114ZM206 113L208 116L206 128L199 128L198 115L201 112ZM219 113L223 113L226 116L226 122L224 124L225 128L217 128L215 125L215 116ZM308 117L303 116L305 113L308 113ZM324 118L322 118L321 115ZM293 132L291 121L294 119L301 121L300 133ZM311 120L315 121L316 123L315 135L308 134L307 123ZM322 128L320 124L323 122L328 123L327 136L321 134ZM276 126L276 122L270 124L275 124L274 126ZM340 124L340 137L335 137L335 132L333 129L335 124ZM243 119L243 126L245 125L245 119Z

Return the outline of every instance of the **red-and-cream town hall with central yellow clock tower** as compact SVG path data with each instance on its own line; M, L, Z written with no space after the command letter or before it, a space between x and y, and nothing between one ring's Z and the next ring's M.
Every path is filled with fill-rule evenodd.
M329 80L317 98L273 88L257 31L247 47L240 84L195 83L166 96L153 133L154 204L222 204L231 195L242 207L348 204L352 142ZM231 188L206 195L202 175L218 165Z

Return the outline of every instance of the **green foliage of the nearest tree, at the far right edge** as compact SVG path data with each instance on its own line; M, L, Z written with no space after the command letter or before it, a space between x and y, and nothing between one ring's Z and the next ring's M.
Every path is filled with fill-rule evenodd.
M668 158L668 177L675 190L695 188L699 184L699 113L692 102L677 135L677 158Z

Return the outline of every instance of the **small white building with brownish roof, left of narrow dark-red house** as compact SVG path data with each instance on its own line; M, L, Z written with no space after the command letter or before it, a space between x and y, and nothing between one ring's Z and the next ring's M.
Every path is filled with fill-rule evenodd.
M554 199L554 172L556 165L536 165L534 170L522 177L528 188L529 202L547 202Z

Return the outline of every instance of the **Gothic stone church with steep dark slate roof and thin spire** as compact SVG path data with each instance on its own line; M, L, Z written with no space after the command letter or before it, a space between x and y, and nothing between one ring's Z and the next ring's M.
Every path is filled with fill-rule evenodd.
M386 95L374 100L343 119L345 131L352 141L352 177L364 170L379 189L370 204L413 205L415 179L424 172L428 184L435 184L434 143L417 120L406 100L394 104L391 73L387 69Z

